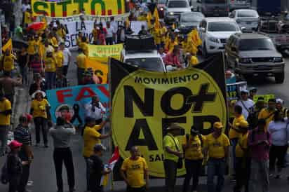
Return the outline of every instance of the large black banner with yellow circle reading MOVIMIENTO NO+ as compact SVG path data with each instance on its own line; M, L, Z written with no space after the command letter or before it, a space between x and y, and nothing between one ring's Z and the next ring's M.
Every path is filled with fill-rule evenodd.
M221 54L194 68L169 73L145 71L112 59L110 77L114 145L119 146L122 159L130 156L131 146L139 146L154 177L164 177L163 137L170 123L184 128L180 142L191 125L208 135L216 121L227 124ZM115 173L114 179L119 179Z

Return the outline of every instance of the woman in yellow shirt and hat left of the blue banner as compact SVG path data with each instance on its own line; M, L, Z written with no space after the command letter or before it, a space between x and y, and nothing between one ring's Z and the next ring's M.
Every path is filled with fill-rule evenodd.
M43 135L44 146L48 147L47 130L48 121L51 121L51 114L49 112L50 104L46 99L45 92L36 90L32 95L30 114L33 116L35 130L36 130L36 146L40 144L40 131Z

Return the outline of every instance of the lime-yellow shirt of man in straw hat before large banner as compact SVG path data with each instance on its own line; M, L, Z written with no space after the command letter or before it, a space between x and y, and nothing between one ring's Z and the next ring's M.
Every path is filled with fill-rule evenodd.
M175 144L177 144L177 146L175 146ZM170 135L170 134L163 137L163 151L164 151L165 159L174 160L175 162L177 162L179 158L171 153L168 153L165 149L166 146L170 147L170 149L172 149L173 151L177 151L177 148L181 150L180 142L177 139L177 137L173 137L173 135Z

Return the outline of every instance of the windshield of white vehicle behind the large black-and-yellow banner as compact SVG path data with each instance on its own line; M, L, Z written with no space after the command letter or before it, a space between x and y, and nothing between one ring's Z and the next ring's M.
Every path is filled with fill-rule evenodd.
M131 65L136 65L142 69L147 69L149 71L161 71L163 72L163 62L161 58L149 57L149 58L133 58L127 59L126 63Z

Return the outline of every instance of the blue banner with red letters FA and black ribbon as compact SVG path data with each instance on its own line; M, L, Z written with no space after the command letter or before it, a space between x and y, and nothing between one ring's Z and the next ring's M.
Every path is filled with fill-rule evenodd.
M61 115L62 107L69 108L69 121L74 125L84 123L86 104L91 102L91 97L98 95L102 106L109 112L108 85L79 85L55 90L47 90L46 95L51 104L53 122Z

